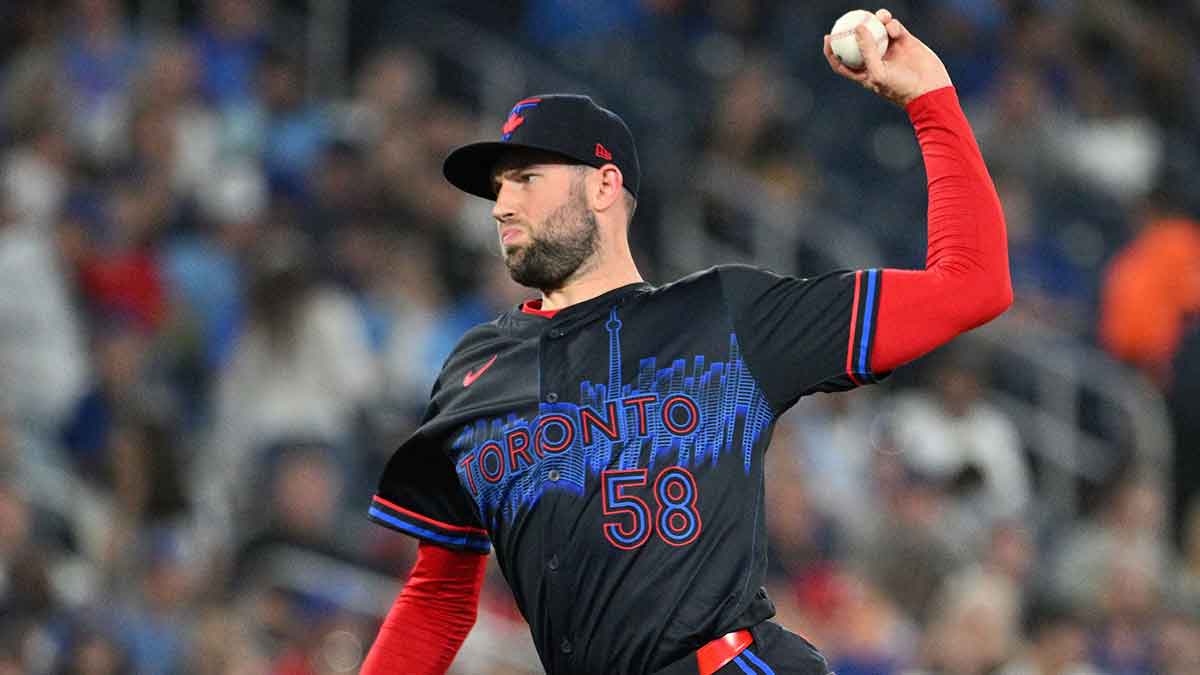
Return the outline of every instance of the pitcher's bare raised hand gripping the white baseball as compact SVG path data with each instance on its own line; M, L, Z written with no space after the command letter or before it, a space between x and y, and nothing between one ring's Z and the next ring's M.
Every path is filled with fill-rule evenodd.
M851 70L834 55L829 36L824 37L826 60L833 72L862 84L898 106L907 106L922 94L950 84L946 65L932 49L908 32L887 10L875 12L888 31L888 50L880 58L880 50L866 25L854 29L854 38L863 52L863 70Z

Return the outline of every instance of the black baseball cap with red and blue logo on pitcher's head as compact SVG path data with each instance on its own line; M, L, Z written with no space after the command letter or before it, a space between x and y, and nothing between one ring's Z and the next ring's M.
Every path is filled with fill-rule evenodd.
M566 162L596 168L616 165L625 190L637 197L641 168L634 135L617 113L575 94L546 94L517 101L500 127L499 141L456 148L446 155L442 173L464 192L496 199L492 168L514 148L544 150L562 155Z

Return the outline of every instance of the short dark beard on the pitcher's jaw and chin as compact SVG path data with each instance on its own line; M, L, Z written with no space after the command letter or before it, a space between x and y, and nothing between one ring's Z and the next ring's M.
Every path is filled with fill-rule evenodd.
M529 243L504 246L509 276L539 291L562 288L596 252L600 227L576 179L566 202L529 232Z

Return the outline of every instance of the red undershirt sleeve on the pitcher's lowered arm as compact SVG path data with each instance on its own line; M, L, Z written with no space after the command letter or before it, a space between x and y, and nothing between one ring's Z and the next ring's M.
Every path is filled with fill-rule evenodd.
M487 556L422 542L361 675L442 675L475 625Z

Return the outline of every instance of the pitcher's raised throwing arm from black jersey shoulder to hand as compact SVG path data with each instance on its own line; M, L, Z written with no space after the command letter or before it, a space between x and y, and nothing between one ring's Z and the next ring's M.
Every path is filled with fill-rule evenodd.
M776 412L812 392L878 382L1013 301L1000 198L949 76L890 14L878 16L893 40L888 61L862 34L866 71L836 61L828 40L826 54L835 71L901 104L913 124L929 181L925 267L811 279L718 268L742 354Z

